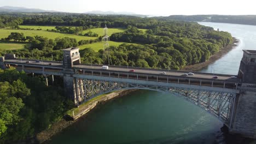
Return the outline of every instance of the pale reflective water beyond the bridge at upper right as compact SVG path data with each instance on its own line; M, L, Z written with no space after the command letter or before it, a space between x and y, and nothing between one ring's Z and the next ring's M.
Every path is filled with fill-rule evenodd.
M237 75L244 49L256 50L256 26L237 25L229 23L199 22L201 25L210 26L219 31L231 33L240 42L235 49L226 53L207 68L204 72Z

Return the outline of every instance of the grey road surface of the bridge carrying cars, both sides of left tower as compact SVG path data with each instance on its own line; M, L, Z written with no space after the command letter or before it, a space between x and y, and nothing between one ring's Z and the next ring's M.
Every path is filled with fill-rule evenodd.
M26 63L27 61L30 61L30 63ZM36 60L28 60L23 59L22 61L20 59L8 59L5 60L5 64L11 64L12 66L18 66L21 67L21 65L24 65L26 69L33 70L33 67L36 70L39 70L40 68L51 68L55 69L57 71L60 71L63 69L63 64L61 62L55 62L55 61L43 61L43 62L36 62ZM49 65L50 64L50 65ZM79 70L94 70L94 71L111 71L111 72L120 72L120 73L130 73L132 74L139 74L139 75L159 75L159 76L173 76L173 77L183 77L183 78L191 78L191 79L205 79L205 80L214 80L214 81L225 81L225 82L231 82L231 83L240 83L240 79L231 79L231 75L224 75L224 74L210 74L210 73L199 73L199 72L193 72L194 75L188 75L188 76L182 76L184 73L188 73L188 71L179 71L179 70L158 70L158 69L146 69L146 68L135 68L135 67L121 67L121 66L109 66L108 70L101 69L102 65L74 65L73 69L79 69ZM135 70L135 72L130 72L129 70ZM45 69L47 70L47 69ZM52 71L53 71L52 70ZM161 74L163 71L165 71L166 74ZM218 79L212 79L213 76L218 76Z

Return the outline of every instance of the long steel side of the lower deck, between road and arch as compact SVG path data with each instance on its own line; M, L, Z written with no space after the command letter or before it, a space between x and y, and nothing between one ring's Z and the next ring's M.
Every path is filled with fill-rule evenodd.
M209 87L220 87L220 88L231 88L237 89L241 83L237 81L227 81L219 79L206 79L197 77L186 77L186 76L173 76L173 75L160 75L160 74L143 74L129 71L109 71L109 70L95 70L95 69L75 69L75 74L91 75L91 76L103 76L103 77L115 77L120 79L134 79L144 81L156 81L156 82L167 82L167 83L178 83L185 85L198 85L198 86L209 86Z

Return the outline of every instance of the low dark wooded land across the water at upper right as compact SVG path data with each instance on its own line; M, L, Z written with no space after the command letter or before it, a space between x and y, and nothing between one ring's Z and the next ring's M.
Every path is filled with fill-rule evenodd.
M157 19L256 25L256 15L170 15L166 17L157 17Z

